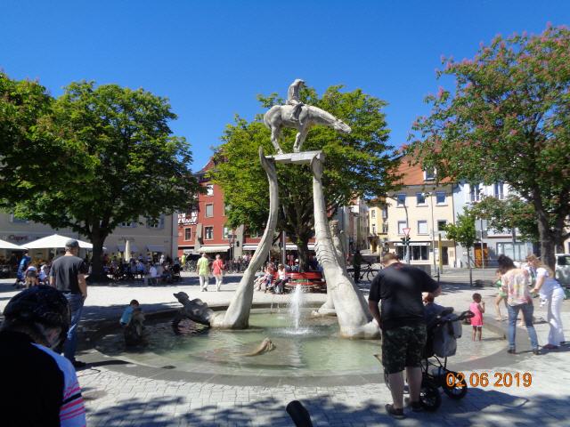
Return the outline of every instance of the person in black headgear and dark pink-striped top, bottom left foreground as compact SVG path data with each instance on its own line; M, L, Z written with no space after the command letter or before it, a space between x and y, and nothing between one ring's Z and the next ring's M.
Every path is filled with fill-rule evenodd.
M69 327L69 304L51 286L16 294L0 328L3 427L85 426L75 369L56 351Z

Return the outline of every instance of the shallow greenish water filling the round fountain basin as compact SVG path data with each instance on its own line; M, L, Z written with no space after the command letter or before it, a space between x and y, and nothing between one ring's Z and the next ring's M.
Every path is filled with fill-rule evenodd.
M243 385L348 385L381 383L382 368L373 357L379 340L347 340L338 336L336 318L310 318L304 310L299 329L292 327L287 308L252 310L247 330L209 329L191 321L175 334L169 318L147 322L146 345L126 348L120 328L92 340L103 357L124 360L114 369L142 376L167 375L186 381ZM485 368L504 350L499 334L487 329L484 345L471 342L467 328L458 354L449 359L453 370ZM243 356L269 337L276 349L255 357ZM105 358L107 359L107 358Z

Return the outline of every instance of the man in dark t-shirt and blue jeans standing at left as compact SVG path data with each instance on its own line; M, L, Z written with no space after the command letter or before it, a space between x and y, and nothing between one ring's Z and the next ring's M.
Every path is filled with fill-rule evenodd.
M71 310L71 325L67 340L63 346L63 355L74 367L85 367L85 363L75 359L77 348L77 326L81 319L83 302L87 298L87 283L85 262L77 256L79 243L71 238L65 244L65 255L55 260L50 270L50 285L61 291L69 302Z

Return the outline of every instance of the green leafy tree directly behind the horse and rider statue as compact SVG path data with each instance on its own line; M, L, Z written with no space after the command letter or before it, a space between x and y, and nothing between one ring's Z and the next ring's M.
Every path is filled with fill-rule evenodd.
M387 145L388 130L382 109L386 102L362 93L361 90L341 92L342 86L331 86L322 97L313 88L301 91L306 104L314 105L345 121L352 133L340 134L322 126L314 127L303 149L322 149L326 156L324 189L333 215L355 197L371 198L385 195L392 189L395 160ZM268 109L283 101L272 94L259 96ZM269 130L257 117L248 122L237 117L228 125L223 144L216 152L214 180L224 189L226 205L230 206L228 222L232 227L246 224L260 230L268 214L268 184L259 163L257 149L273 154ZM281 148L291 152L295 133L285 129ZM278 227L297 243L301 269L308 258L307 243L314 234L313 175L306 165L277 165L280 181L281 219Z

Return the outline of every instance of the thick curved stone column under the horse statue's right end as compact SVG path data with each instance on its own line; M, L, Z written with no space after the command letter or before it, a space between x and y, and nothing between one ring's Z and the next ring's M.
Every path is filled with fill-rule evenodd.
M337 312L340 334L346 338L375 338L379 336L379 326L372 320L368 303L361 291L341 266L330 236L327 205L322 191L323 161L322 153L311 160L317 259L327 279L327 289Z

